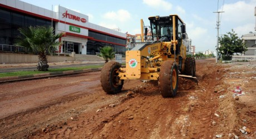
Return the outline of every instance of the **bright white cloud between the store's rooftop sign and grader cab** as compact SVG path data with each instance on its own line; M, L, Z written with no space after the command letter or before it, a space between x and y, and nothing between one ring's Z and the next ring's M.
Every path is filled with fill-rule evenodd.
M114 21L126 22L130 20L131 14L125 9L119 9L116 12L114 11L107 12L103 15L103 17L105 19L111 19Z

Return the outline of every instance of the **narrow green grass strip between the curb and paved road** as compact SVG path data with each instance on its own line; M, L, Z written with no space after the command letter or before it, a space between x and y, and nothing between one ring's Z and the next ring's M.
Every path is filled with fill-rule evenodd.
M49 69L49 71L5 72L5 73L0 73L0 78L11 77L11 76L35 75L35 74L38 74L38 73L48 73L48 72L75 71L75 70L82 70L82 69L87 69L87 68L101 68L101 67L103 67L103 64L102 65L82 66L82 67L55 68L55 69Z

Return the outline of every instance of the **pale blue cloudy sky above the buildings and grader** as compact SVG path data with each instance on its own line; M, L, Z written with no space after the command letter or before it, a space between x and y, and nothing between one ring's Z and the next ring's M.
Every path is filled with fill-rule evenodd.
M234 29L241 37L255 32L256 0L21 0L42 8L60 5L86 14L88 22L120 32L140 34L140 19L149 26L148 17L178 14L186 23L186 33L196 52L215 51L217 43L216 11L220 13L219 36Z

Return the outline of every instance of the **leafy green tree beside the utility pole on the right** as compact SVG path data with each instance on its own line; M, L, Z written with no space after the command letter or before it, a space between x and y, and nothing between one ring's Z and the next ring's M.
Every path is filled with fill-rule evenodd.
M225 56L233 55L233 53L244 53L247 51L245 42L237 36L237 33L235 33L233 29L232 32L228 32L228 34L224 34L223 37L219 37L219 43L219 52Z

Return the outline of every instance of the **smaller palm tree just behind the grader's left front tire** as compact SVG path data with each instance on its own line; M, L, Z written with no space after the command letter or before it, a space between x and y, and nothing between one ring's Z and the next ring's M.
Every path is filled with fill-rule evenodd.
M113 59L115 57L114 48L111 46L105 46L100 48L100 57L103 57L105 60L105 63L109 62L109 59Z

